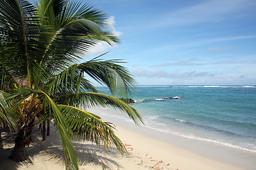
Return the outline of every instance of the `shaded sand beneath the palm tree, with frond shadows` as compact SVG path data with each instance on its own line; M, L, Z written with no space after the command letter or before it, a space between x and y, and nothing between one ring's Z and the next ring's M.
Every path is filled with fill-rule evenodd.
M14 162L9 159L14 148L14 135L8 132L2 133L4 149L0 150L0 169L24 169L24 166L29 167L34 163L33 157L35 156L44 157L44 159L53 161L54 164L58 164L65 169L63 147L58 137L58 132L54 128L51 128L51 130L53 132L47 137L46 141L42 141L41 130L38 130L38 128L33 130L33 142L26 150L25 162ZM88 142L73 142L73 147L78 154L80 166L100 166L102 170L122 168L113 159L108 158L110 157L109 155L111 157L119 157L117 149L110 149L110 151L105 152L105 149Z

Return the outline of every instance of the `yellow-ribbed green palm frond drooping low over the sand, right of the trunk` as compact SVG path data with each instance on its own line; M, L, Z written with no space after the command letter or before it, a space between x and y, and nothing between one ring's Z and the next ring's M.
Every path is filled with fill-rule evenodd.
M103 142L105 149L116 147L121 154L127 154L124 144L114 135L110 123L105 123L97 115L73 106L58 106L62 109L68 125L73 130L74 140L89 140L97 145Z

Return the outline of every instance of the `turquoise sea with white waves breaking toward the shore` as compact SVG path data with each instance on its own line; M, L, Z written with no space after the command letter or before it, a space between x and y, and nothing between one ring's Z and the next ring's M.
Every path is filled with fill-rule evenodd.
M132 98L147 128L256 154L256 86L139 86Z

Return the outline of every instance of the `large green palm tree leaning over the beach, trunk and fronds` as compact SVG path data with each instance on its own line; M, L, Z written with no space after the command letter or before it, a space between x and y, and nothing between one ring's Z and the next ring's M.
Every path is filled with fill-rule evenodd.
M18 131L11 159L25 159L33 128L46 120L58 129L66 169L78 169L71 140L103 142L107 149L127 153L112 123L87 110L117 108L134 123L142 122L134 108L117 99L134 90L132 75L121 60L100 56L78 64L97 42L119 41L106 17L77 1L41 0L36 6L25 0L0 1L0 90L8 103L7 110L0 107L0 120ZM107 85L112 96L98 93L86 77Z

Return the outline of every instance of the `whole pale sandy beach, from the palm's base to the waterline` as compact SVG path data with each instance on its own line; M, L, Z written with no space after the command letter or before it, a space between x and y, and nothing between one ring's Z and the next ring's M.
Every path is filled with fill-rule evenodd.
M94 112L107 110L97 108ZM116 125L117 136L124 142L129 155L122 155L116 149L105 152L104 147L91 142L73 142L80 159L80 169L173 169L173 170L213 170L213 169L256 169L256 154L238 149L214 145L212 143L170 136L134 123L101 115L103 120ZM6 133L2 134L6 139ZM4 150L0 151L0 169L65 169L62 146L58 132L51 128L46 141L41 140L41 132L35 128L33 143L26 155L27 162L17 163L8 157L14 147L13 140L4 140Z

